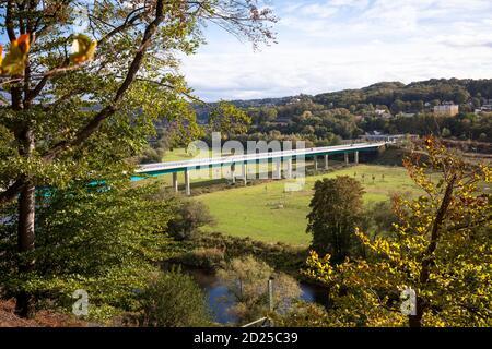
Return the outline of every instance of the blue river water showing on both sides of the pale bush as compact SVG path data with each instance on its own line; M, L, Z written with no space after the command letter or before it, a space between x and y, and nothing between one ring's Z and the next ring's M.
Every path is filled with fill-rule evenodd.
M190 274L204 291L213 320L220 324L235 323L236 318L227 312L227 309L234 304L234 300L229 294L227 289L221 285L215 274L198 268L186 268L185 272ZM327 305L327 293L325 289L306 282L301 282L300 286L302 290L301 300Z

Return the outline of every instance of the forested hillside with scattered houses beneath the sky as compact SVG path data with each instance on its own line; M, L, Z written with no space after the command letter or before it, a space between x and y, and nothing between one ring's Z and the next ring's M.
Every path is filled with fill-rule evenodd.
M231 104L253 120L248 134L239 139L289 137L327 145L375 131L491 142L491 99L492 80L433 79ZM434 106L443 104L457 105L459 113L435 115ZM197 106L198 119L206 123L216 105Z

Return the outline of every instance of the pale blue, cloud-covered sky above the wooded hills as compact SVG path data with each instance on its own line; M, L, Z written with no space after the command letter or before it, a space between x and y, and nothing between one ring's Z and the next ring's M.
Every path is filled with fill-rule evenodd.
M278 44L218 27L184 57L207 101L319 94L382 81L492 77L492 0L270 0Z

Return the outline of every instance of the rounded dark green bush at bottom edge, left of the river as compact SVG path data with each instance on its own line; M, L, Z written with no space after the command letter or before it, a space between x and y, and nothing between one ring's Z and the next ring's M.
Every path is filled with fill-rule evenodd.
M160 274L140 294L139 324L149 327L210 325L203 292L191 276L179 270Z

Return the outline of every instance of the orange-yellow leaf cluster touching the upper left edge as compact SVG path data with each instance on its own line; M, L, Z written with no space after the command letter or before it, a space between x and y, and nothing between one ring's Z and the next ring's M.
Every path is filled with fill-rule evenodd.
M1 73L8 75L23 75L27 53L31 49L31 35L23 34L15 40L10 43L9 52L7 52L1 61ZM0 50L0 57L3 48Z

